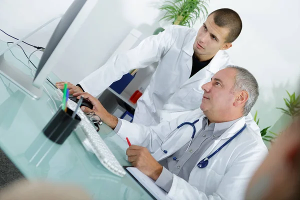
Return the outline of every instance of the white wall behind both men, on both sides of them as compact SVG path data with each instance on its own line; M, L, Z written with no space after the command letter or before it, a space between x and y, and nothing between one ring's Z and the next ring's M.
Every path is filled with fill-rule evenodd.
M1 0L0 28L20 37L63 13L71 2L72 0ZM103 64L132 28L143 32L143 37L150 35L159 26L157 21L163 13L157 7L161 2L162 0L100 1L98 12L93 13L91 18L101 25L101 29L95 29L90 37L98 37L97 42L101 45L89 49L92 50L89 58L96 59L99 66ZM209 11L230 7L240 14L243 30L228 52L237 65L249 69L257 78L260 96L252 112L258 110L262 128L272 125L281 116L280 111L274 107L284 106L282 96L286 96L285 89L292 92L299 88L300 63L297 56L300 54L300 25L297 19L300 18L300 2L213 0L209 6ZM45 46L57 22L58 20L43 28L27 41ZM199 28L200 24L198 22L194 27ZM1 32L0 39L11 41ZM29 52L33 50L26 45L22 46ZM80 80L98 66L89 66L84 72L76 69L74 73L67 73L67 69L71 67L64 67L58 75L62 79ZM59 73L57 69L56 72Z

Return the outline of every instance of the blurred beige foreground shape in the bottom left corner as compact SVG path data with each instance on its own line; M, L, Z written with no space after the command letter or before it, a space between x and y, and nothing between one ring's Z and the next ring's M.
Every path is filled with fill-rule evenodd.
M0 190L0 200L90 200L80 187L43 181L17 181Z

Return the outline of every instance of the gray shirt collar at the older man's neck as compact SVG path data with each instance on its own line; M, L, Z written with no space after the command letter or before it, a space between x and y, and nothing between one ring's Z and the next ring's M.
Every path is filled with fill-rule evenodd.
M225 122L221 122L221 123L210 123L208 125L208 119L207 117L203 117L203 128L205 128L207 126L208 129L212 129L212 134L214 135L214 137L219 137L221 136L221 134L223 134L231 125L233 125L236 121L238 121L240 118L239 117L237 119L234 119L232 121L225 121Z

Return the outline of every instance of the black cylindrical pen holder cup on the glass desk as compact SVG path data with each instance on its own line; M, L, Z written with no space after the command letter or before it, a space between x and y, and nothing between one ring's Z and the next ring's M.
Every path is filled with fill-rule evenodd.
M53 142L62 144L81 121L77 114L74 117L72 114L73 111L68 107L66 112L60 107L43 128L44 135Z

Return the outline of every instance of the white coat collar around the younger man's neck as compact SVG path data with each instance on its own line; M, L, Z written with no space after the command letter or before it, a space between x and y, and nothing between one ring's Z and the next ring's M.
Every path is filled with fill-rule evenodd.
M192 34L194 34L194 36L192 36L190 40L187 41L185 45L182 47L182 50L185 53L187 53L190 56L190 58L194 53L193 44L196 39L197 31L194 30ZM224 50L218 50L205 68L212 73L216 73L225 63L224 60L229 60L229 55Z

